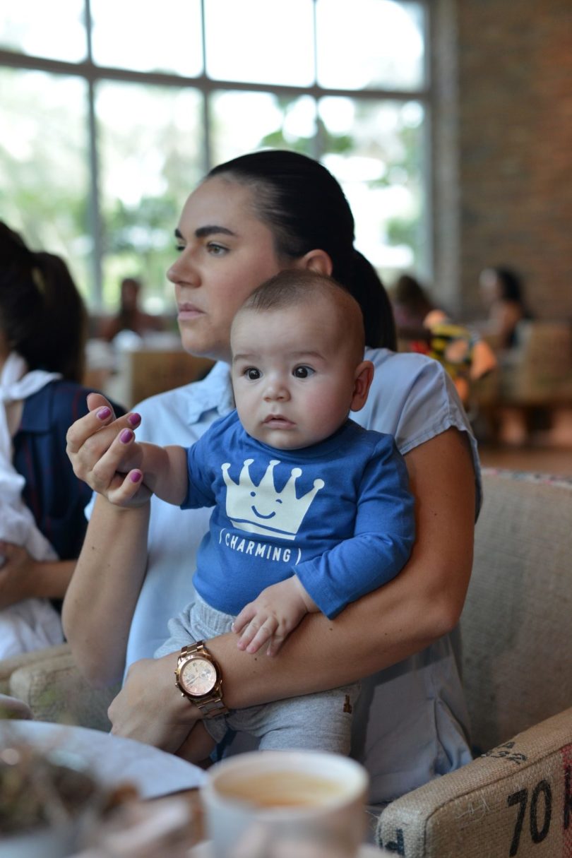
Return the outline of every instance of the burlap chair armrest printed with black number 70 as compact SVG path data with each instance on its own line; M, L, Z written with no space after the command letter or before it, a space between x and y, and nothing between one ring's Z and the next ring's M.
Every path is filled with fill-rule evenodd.
M572 855L572 709L393 801L376 840L406 858Z

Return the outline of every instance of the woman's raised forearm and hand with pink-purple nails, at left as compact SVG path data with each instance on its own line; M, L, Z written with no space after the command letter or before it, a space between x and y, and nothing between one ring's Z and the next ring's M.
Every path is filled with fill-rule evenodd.
M118 435L139 425L137 414L115 419L100 394L87 397L89 414L69 427L67 451L77 477L101 492L74 575L63 600L63 631L75 661L94 686L121 680L129 626L147 565L148 499L122 509L106 498L126 479ZM113 449L111 449L113 448Z

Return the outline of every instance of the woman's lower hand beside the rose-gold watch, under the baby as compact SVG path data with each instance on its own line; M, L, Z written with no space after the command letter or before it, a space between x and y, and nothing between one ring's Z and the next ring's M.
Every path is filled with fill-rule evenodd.
M111 733L175 753L201 713L175 685L178 653L145 658L129 668L108 710Z

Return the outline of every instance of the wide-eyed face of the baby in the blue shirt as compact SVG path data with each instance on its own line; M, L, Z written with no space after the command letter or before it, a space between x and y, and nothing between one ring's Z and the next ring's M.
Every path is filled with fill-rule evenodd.
M246 432L278 450L328 438L352 408L357 364L328 300L240 311L232 324L232 384Z

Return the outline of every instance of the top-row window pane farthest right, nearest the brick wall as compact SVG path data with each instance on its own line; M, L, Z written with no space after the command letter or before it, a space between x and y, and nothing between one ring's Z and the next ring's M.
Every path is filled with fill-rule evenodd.
M424 9L391 0L316 0L317 77L337 89L424 83Z

